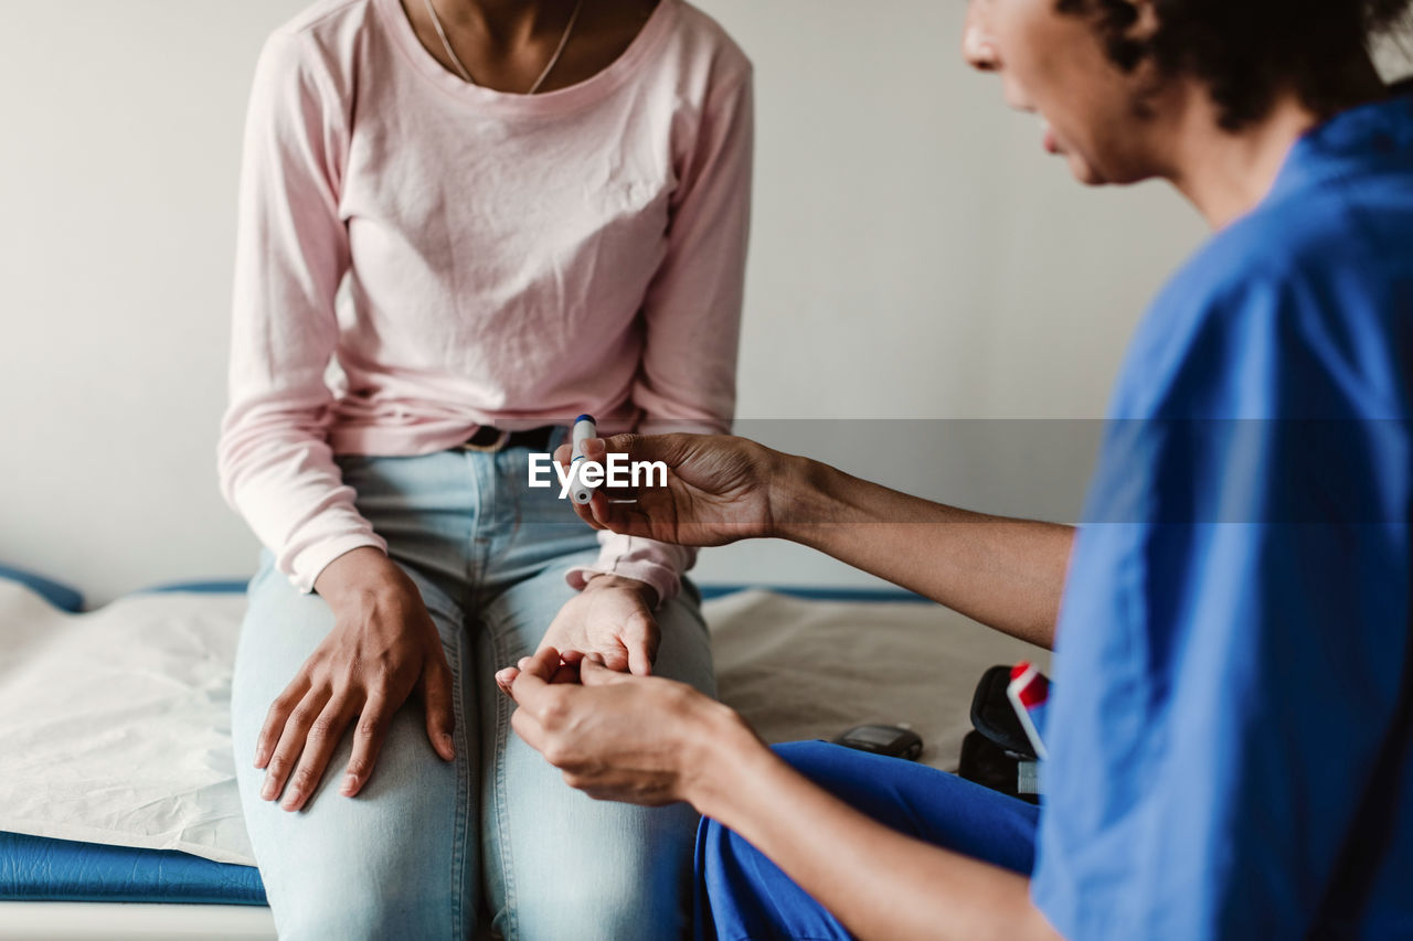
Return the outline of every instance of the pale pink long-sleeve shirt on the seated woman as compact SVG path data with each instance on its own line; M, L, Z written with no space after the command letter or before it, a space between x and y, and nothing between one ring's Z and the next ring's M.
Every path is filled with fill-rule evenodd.
M386 550L335 454L579 413L728 430L750 153L750 64L682 0L534 96L447 72L400 0L325 0L276 31L247 114L219 472L280 569L311 591L343 552ZM667 599L692 558L601 534L571 584L619 572Z

